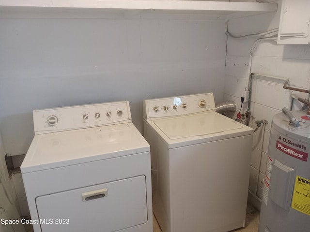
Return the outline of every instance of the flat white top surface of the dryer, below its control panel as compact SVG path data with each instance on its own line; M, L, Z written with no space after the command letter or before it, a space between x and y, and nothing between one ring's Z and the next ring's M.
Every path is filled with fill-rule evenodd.
M35 135L22 173L149 152L132 123Z

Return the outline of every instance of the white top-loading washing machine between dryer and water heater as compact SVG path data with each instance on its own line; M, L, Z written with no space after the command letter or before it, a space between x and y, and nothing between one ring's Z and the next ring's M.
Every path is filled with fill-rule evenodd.
M252 135L216 113L212 93L144 100L153 211L163 232L245 226Z

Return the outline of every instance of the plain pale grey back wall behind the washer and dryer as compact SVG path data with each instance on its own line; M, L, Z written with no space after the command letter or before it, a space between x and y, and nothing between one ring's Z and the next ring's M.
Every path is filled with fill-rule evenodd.
M0 19L8 155L27 152L33 109L129 100L142 132L143 99L214 92L223 101L226 20L33 17Z

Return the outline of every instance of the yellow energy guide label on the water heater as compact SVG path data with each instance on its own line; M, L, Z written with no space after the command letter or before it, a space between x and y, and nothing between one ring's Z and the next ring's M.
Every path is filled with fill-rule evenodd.
M296 175L292 208L310 216L310 180Z

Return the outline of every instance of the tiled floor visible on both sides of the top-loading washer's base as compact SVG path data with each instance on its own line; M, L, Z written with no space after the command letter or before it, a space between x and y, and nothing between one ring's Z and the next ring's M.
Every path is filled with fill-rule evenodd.
M247 208L247 217L246 217L246 226L244 228L240 228L237 230L233 230L231 232L258 232L258 222L259 222L260 213L253 208L252 206L248 205ZM155 216L153 215L153 232L162 232L160 227L156 221Z

